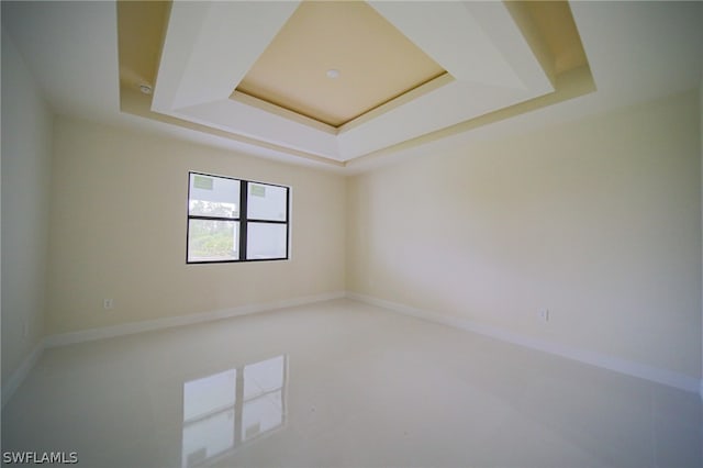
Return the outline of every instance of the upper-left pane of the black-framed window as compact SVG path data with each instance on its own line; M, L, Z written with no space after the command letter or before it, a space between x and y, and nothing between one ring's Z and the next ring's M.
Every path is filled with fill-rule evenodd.
M239 181L191 174L188 213L200 216L239 218Z

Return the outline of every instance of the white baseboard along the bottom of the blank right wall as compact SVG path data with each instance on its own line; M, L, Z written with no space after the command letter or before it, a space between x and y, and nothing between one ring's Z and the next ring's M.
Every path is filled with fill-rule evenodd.
M481 335L498 338L504 342L513 343L516 345L525 346L540 352L550 353L557 356L566 357L569 359L585 363L592 366L601 367L616 372L625 374L633 377L639 377L641 379L651 380L665 386L674 387L680 390L690 392L700 392L703 398L703 380L695 379L693 377L673 372L667 369L660 369L657 367L648 366L640 363L635 363L626 359L621 359L613 356L607 356L600 353L593 353L584 349L577 349L565 345L555 343L548 343L536 338L526 337L515 333L507 332L505 330L481 325L471 322L466 319L450 317L439 315L436 313L422 311L420 309L411 308L404 304L386 301L369 296L357 294L354 292L347 293L347 298L355 299L361 302L366 302L372 305L377 305L383 309L388 309L394 312L399 312L405 315L412 315L417 319L426 320L443 325L453 326L456 328L466 330L468 332L479 333Z

